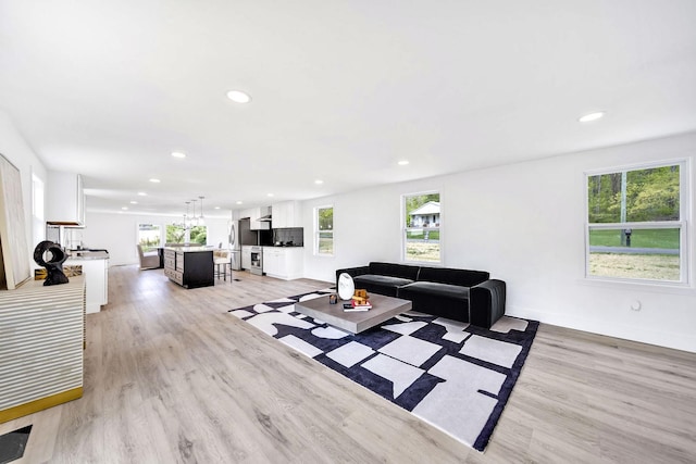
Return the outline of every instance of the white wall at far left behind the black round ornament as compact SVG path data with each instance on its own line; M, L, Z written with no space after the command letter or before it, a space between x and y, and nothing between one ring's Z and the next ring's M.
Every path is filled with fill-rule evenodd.
M38 265L34 262L34 248L37 239L46 237L46 229L36 230L32 221L32 173L47 184L47 172L32 148L26 143L8 114L0 110L0 153L20 170L22 177L22 201L24 203L24 222L26 230L27 260L32 267Z

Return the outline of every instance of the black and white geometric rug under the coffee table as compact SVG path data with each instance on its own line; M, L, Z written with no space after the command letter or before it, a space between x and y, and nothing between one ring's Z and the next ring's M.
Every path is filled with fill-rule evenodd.
M229 313L483 451L538 322L504 316L485 329L407 312L353 335L295 311L296 302L332 292L283 298Z

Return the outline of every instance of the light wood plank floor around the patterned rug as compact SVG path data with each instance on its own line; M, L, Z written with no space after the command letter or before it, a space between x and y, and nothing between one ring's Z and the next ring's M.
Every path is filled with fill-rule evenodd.
M543 324L482 454L227 313L326 283L235 277L112 267L85 396L0 424L15 463L696 462L694 353Z

